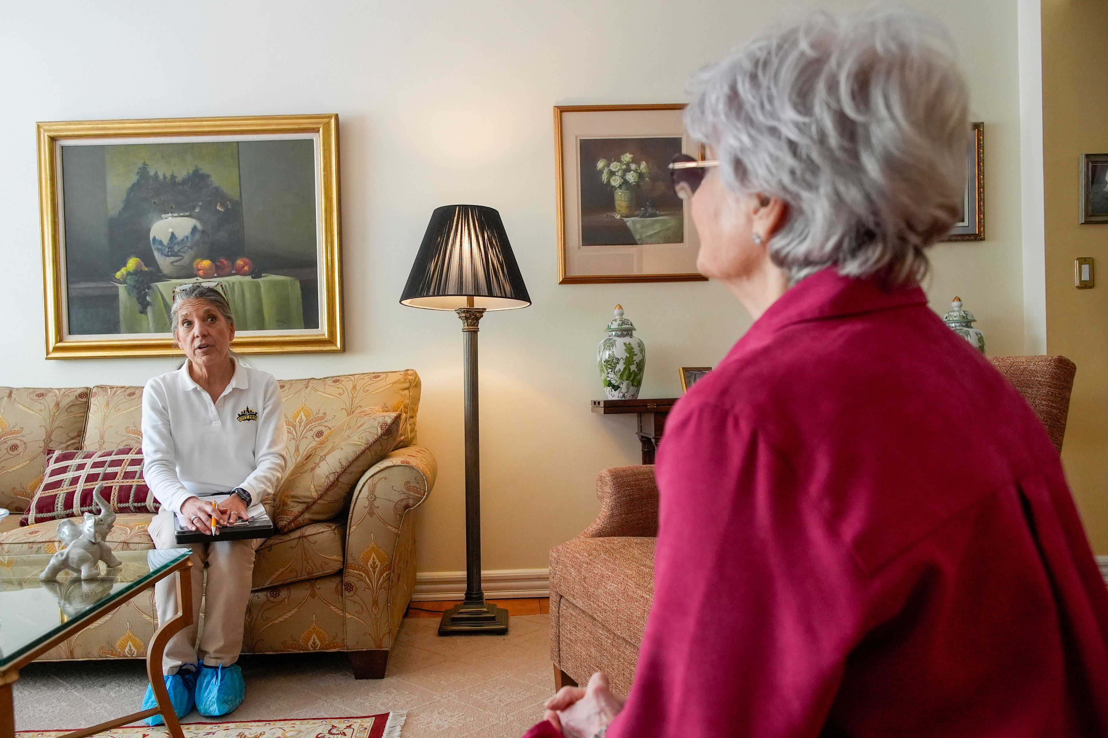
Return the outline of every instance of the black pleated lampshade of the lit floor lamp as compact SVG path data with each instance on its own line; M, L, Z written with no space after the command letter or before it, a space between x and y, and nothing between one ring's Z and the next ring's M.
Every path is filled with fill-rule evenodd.
M435 208L400 303L430 310L530 305L500 212L480 205Z

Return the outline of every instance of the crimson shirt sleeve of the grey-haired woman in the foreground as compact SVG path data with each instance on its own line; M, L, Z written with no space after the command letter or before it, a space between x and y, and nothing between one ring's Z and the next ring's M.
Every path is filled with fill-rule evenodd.
M659 449L655 600L608 738L817 736L864 578L767 434L712 404Z

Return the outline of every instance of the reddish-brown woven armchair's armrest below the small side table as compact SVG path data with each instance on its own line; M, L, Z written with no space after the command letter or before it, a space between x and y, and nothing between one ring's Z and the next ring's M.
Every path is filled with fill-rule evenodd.
M601 513L579 538L658 534L658 486L654 466L615 467L596 477Z

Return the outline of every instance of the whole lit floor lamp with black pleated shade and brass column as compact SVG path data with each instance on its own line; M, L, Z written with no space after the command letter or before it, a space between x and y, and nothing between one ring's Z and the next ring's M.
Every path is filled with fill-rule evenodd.
M478 323L486 310L531 304L523 276L493 208L435 208L400 303L453 310L462 319L465 360L465 600L442 614L439 635L507 633L507 611L481 590L481 443L478 420Z

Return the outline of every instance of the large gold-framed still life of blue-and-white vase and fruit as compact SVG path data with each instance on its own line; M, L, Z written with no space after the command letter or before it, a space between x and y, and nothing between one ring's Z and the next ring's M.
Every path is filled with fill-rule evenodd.
M338 115L38 124L47 358L165 356L216 282L244 354L342 351Z

